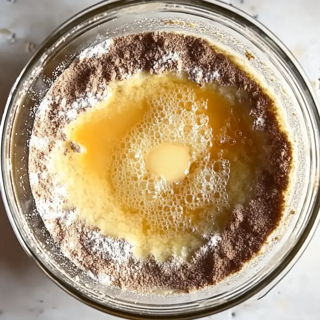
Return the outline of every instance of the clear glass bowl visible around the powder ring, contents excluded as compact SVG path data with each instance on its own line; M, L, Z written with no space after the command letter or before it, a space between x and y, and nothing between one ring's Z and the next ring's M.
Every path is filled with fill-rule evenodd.
M282 105L295 157L281 225L263 254L220 285L193 294L139 295L99 284L64 257L35 213L28 180L30 110L45 95L62 60L108 37L177 30L204 36L249 66ZM250 52L254 59L246 58ZM68 63L65 63L66 68ZM61 68L55 76L61 73ZM31 113L33 114L33 113ZM1 123L1 192L21 245L39 267L78 300L130 319L192 319L262 297L299 259L318 224L319 114L311 85L289 50L264 26L218 1L104 1L69 19L35 52L12 87ZM292 214L295 212L295 214ZM275 241L275 239L278 239Z

